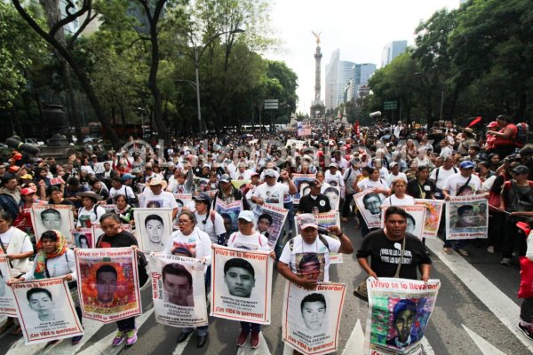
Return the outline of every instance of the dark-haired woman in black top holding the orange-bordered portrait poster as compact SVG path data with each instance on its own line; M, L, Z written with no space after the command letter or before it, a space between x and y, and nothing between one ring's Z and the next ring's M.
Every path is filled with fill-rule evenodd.
M133 234L123 231L121 220L115 215L115 213L106 213L104 216L100 217L99 223L104 234L99 236L98 241L96 242L96 248L130 248L131 246L139 246ZM147 271L145 265L139 263L140 284L143 284L143 279L147 280ZM99 272L97 288L100 284L116 285L116 273L113 275L112 271ZM111 286L109 286L109 288L110 287ZM116 327L118 328L118 331L113 339L113 346L120 345L124 340L128 346L137 342L135 317L117 320Z

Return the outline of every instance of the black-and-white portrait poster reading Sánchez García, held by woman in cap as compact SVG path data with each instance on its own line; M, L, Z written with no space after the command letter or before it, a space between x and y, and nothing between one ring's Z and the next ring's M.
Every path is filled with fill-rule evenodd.
M213 244L211 316L270 324L272 267L268 251Z

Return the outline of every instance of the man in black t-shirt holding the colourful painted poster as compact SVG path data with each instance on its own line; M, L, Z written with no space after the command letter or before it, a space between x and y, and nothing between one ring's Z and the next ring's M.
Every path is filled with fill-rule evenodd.
M369 233L357 251L357 261L369 276L394 277L402 256L402 243L405 238L400 278L427 282L431 259L427 256L424 244L416 236L406 233L407 212L392 206L385 212L385 228ZM371 257L369 264L368 257Z

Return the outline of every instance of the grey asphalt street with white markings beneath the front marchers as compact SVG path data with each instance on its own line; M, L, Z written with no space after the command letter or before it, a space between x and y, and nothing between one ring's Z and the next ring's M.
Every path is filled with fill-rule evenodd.
M354 242L361 244L359 231L354 230L353 220L344 225L346 233ZM533 343L516 328L519 317L519 300L516 293L519 285L519 265L516 260L509 267L499 264L499 256L489 255L485 248L468 245L471 256L464 258L441 252L441 241L428 241L434 266L432 278L442 281L437 304L424 339L426 354L529 354ZM332 265L330 279L346 282L348 294L340 327L338 354L358 354L362 344L362 330L366 325L368 308L352 296L354 286L363 280L361 268L355 255L345 256L344 264ZM195 335L186 343L176 344L177 328L163 327L155 323L149 287L143 291L145 313L138 318L139 341L131 348L113 348L111 339L115 325L84 321L86 335L82 343L71 346L70 341L52 347L44 344L25 346L20 336L2 335L0 353L7 354L289 354L282 343L282 293L285 280L274 272L272 325L263 328L264 339L259 349L237 349L235 338L239 324L226 319L210 319L208 343L196 349ZM361 321L362 329L355 327Z

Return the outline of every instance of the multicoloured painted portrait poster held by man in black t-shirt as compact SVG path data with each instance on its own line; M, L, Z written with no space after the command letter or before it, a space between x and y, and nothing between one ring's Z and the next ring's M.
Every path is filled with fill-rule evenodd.
M440 280L369 278L364 354L422 355L421 340L434 310Z

